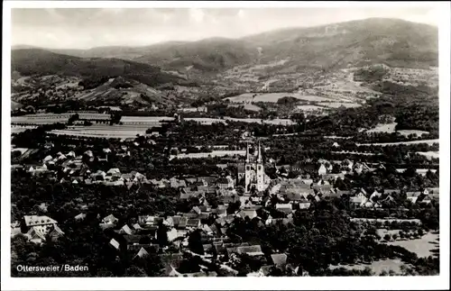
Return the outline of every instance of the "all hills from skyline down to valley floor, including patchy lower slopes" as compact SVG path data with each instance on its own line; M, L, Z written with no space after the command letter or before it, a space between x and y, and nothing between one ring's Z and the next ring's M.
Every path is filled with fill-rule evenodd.
M83 92L76 96L116 104L189 103L199 95L244 92L298 94L309 100L302 105L327 108L364 105L381 95L437 103L437 42L437 27L371 18L238 40L90 50L19 46L12 52L13 86L14 92L30 90L33 79L26 77L32 75L78 77ZM379 71L379 65L385 69ZM117 81L111 80L116 77L124 86L115 86ZM40 78L35 84L42 82L49 80ZM176 86L161 86L168 83Z

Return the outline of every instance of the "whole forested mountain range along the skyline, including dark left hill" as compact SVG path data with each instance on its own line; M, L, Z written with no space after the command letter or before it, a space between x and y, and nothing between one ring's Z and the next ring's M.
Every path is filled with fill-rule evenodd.
M54 50L15 46L12 70L21 76L124 77L145 84L198 84L231 68L280 62L281 70L334 71L384 64L429 68L438 64L437 27L370 18L310 28L264 32L241 39L169 41L145 47ZM219 76L219 78L218 78ZM191 84L192 85L192 84Z

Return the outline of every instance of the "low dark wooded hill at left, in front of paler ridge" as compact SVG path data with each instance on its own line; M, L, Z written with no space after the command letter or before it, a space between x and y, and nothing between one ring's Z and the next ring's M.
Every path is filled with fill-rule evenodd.
M78 77L128 77L148 86L183 83L183 79L160 68L123 59L82 59L48 50L13 50L12 71L22 76L64 75Z

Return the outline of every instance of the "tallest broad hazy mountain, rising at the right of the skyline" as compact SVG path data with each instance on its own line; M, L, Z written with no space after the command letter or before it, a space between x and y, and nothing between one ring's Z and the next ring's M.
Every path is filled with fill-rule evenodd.
M290 59L299 67L346 68L385 63L392 67L437 66L437 27L371 18L312 28L266 32L244 38L262 48L262 62Z

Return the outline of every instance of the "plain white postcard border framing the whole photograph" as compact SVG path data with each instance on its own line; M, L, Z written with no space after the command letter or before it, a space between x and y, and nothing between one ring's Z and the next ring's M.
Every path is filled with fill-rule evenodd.
M11 134L11 8L143 8L143 7L412 7L439 8L439 95L440 95L440 276L437 277L203 277L203 278L12 278L10 254ZM450 132L450 5L447 2L124 2L124 1L5 1L3 12L2 86L2 289L4 290L299 290L299 289L449 289L449 132Z

